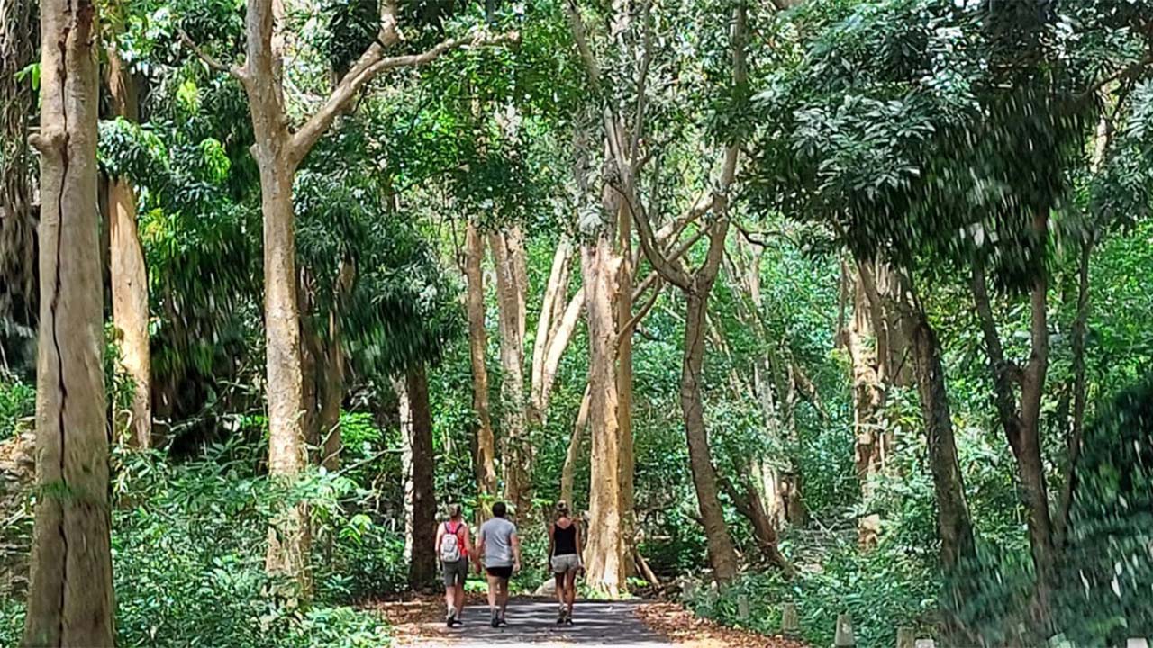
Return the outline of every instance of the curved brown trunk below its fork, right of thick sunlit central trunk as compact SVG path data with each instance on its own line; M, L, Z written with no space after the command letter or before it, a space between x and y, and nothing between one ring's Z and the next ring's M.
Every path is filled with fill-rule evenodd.
M707 293L706 293L707 294ZM704 397L701 380L704 368L704 326L707 297L688 292L685 310L685 349L680 372L680 409L685 415L685 436L688 438L688 461L696 489L696 502L708 542L709 564L721 582L737 577L737 551L729 527L724 521L721 498L717 496L717 475L713 466L708 432L704 429Z

